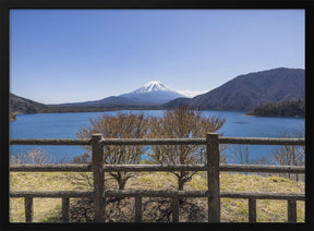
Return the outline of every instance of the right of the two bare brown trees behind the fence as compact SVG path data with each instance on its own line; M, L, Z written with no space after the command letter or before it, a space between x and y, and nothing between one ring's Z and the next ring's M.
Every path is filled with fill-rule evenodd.
M218 131L226 119L210 115L206 118L200 110L188 107L167 110L161 118L150 118L150 137L156 138L196 138L205 137L208 132ZM200 145L159 145L152 147L153 162L165 165L196 165L205 162L206 147ZM178 187L192 180L195 171L174 171Z

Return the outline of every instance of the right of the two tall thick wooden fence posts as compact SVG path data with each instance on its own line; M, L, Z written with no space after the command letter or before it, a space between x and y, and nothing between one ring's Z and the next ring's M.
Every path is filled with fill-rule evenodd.
M207 143L207 184L208 184L208 222L220 222L219 186L219 143L217 133L208 133Z

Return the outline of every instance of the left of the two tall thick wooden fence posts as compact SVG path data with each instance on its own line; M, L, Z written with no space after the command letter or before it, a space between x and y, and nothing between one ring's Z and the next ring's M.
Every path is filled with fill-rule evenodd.
M105 198L102 193L104 186L104 153L102 145L100 144L101 134L92 135L92 161L93 161L93 179L94 179L94 209L95 222L105 221Z

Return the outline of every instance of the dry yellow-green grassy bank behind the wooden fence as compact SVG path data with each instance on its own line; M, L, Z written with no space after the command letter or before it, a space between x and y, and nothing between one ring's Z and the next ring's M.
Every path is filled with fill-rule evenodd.
M89 173L88 173L89 174ZM71 180L70 180L71 179ZM73 181L73 179L76 179ZM50 172L11 172L10 187L11 191L61 191L61 190L77 190L81 186L84 190L88 189L88 183L85 185L78 184L77 179L82 179L78 173L50 173ZM85 182L85 181L81 181ZM113 181L107 181L111 187L117 187ZM142 190L161 190L177 189L177 180L171 173L155 172L155 173L138 173L135 178L128 181L125 189L142 189ZM193 180L184 186L184 190L206 190L206 173L200 172L193 177ZM295 182L279 177L258 177L255 174L239 174L239 173L220 173L220 190L228 192L245 191L245 192L282 192L282 193L304 193L304 183ZM145 200L146 199L146 200ZM77 199L70 199L71 207L75 209ZM125 198L118 204L123 207L121 210L124 218L119 217L120 214L114 214L111 205L107 210L112 211L111 221L132 221L134 216L133 198ZM164 203L164 208L158 206L158 202L143 199L145 209L143 211L143 221L152 221L153 210L167 210L170 202ZM147 206L146 206L147 205ZM206 222L206 198L186 199L180 207L180 221L205 221ZM168 206L168 207L167 207ZM287 202L286 200L257 200L257 222L287 222ZM298 222L304 222L304 202L297 203ZM117 210L117 209L116 209ZM60 221L61 198L34 198L34 221ZM194 214L195 216L191 216ZM24 199L10 199L10 221L24 222ZM108 215L109 216L109 215ZM116 217L114 217L116 216ZM130 216L130 219L126 218ZM121 220L122 219L122 220ZM158 221L158 219L156 219ZM247 222L249 209L246 199L221 198L221 221L222 222Z

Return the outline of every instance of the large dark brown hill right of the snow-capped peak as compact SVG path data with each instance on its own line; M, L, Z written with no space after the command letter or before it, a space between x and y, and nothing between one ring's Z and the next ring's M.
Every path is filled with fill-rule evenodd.
M192 99L174 99L164 105L185 105L203 110L250 110L258 105L305 98L305 71L273 69L240 75Z

